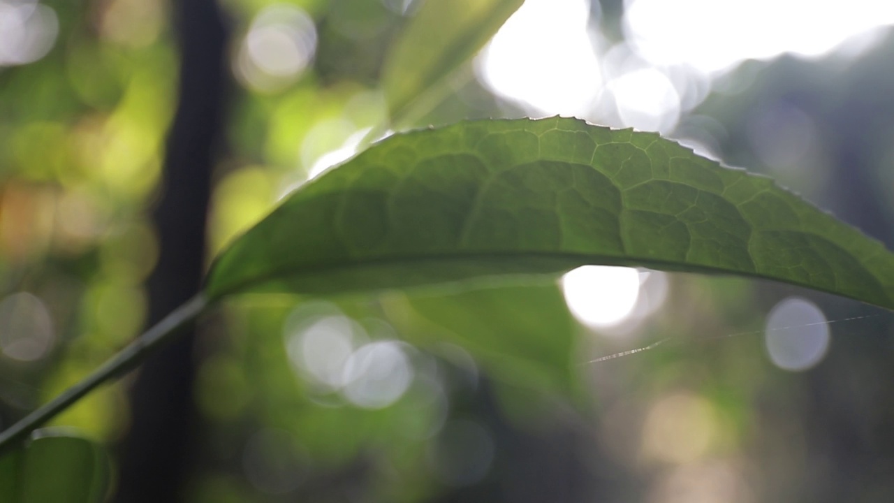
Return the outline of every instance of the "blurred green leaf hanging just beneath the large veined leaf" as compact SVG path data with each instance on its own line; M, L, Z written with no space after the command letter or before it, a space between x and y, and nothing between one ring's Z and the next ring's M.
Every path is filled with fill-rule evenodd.
M566 395L576 388L571 357L577 324L555 282L401 298L409 309L391 318L411 342L460 345L486 371L516 385Z

